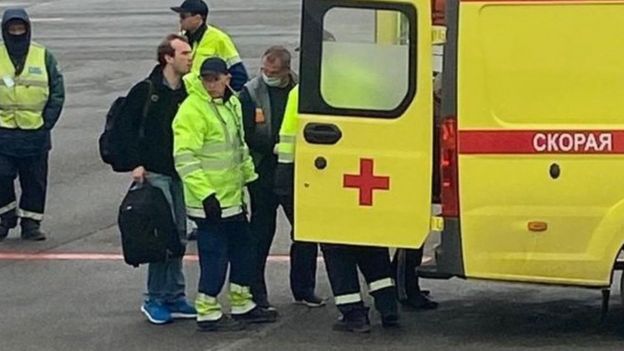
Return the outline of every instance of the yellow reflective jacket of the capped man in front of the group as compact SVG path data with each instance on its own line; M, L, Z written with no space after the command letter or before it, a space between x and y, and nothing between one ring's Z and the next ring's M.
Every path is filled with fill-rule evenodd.
M243 212L243 188L258 178L245 144L241 104L213 99L197 75L173 121L173 156L184 183L187 214L206 218L202 201L216 194L224 218Z

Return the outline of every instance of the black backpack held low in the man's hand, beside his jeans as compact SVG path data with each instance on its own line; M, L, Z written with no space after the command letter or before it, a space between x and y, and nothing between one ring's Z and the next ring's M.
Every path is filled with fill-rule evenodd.
M119 206L117 223L124 260L131 266L184 256L169 203L147 180L131 185Z

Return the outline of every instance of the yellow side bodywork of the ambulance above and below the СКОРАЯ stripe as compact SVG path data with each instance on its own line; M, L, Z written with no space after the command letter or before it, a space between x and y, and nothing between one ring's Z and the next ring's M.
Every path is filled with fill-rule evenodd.
M622 1L461 6L460 130L624 129ZM623 161L620 154L461 155L466 275L608 285L624 242ZM531 221L548 229L531 232Z

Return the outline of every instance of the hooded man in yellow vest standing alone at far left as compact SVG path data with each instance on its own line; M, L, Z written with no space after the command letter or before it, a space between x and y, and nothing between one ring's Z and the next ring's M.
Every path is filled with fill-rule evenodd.
M0 45L0 240L21 218L22 239L45 240L40 224L47 191L50 131L65 101L54 56L31 41L24 9L2 17ZM14 181L19 177L19 205Z

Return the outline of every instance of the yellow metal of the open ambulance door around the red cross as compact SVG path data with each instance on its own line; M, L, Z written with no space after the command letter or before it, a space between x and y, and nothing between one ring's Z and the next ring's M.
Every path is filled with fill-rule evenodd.
M418 11L416 97L402 116L393 119L300 115L295 167L298 240L417 248L429 233L433 128L430 1L383 2L410 4ZM339 43L340 36L337 38ZM327 47L330 45L338 44ZM349 72L370 78L373 67L358 70L355 61L349 63ZM388 75L375 79L395 81ZM383 84L386 82L379 81L377 85ZM340 89L347 96L358 91L358 87ZM322 93L334 96L329 90ZM371 106L383 106L383 94L372 94L370 98L377 102ZM341 100L330 98L330 102L344 106ZM334 124L342 139L336 145L307 143L303 129L308 123ZM319 157L327 160L325 169L315 167ZM372 160L373 175L389 181L389 189L373 191L370 205L362 204L358 189L345 187L345 175L359 175L363 160Z

